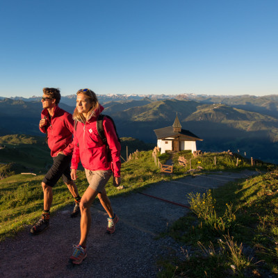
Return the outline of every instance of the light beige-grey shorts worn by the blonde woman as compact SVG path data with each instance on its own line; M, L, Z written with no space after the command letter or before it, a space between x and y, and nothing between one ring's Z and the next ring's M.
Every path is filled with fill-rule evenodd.
M85 169L85 174L89 183L89 187L101 193L104 190L106 183L108 183L110 177L112 176L112 171L91 171Z

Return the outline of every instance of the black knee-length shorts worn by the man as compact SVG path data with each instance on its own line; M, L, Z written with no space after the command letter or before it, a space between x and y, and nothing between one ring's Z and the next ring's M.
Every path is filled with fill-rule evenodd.
M70 177L70 162L72 161L72 156L65 156L64 154L58 154L53 158L53 165L45 175L42 182L47 184L47 186L55 186L60 177L63 177L63 181L68 183L72 181Z

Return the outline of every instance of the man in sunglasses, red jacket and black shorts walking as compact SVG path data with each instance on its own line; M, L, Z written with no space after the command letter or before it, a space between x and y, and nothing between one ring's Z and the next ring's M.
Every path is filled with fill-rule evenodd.
M56 88L43 88L42 91L42 108L44 110L41 114L40 131L47 135L46 140L49 149L51 149L54 163L42 180L44 210L41 218L31 228L32 234L40 234L49 227L50 208L53 200L52 188L60 177L63 178L75 199L74 211L72 211L71 217L79 215L79 202L81 200L76 184L70 177L70 163L74 148L72 142L74 120L72 120L70 113L58 107L60 90Z

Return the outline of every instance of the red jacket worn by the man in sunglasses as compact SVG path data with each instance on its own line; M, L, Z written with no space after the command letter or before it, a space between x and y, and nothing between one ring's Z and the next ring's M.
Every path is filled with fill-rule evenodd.
M57 156L62 152L71 155L74 149L72 133L74 132L74 120L72 114L56 106L53 117L49 117L47 109L41 114L42 119L47 119L47 125L40 127L40 131L47 133L47 143L51 149L51 156Z

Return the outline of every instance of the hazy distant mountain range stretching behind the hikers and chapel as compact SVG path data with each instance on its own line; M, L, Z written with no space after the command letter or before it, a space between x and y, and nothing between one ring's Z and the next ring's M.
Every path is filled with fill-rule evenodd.
M154 129L172 126L178 115L183 129L204 139L203 151L246 153L278 163L278 96L97 95L104 114L115 120L120 137L156 142ZM60 107L72 113L76 96L62 97ZM40 97L0 98L0 136L38 130Z

